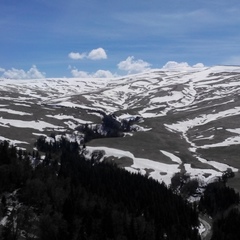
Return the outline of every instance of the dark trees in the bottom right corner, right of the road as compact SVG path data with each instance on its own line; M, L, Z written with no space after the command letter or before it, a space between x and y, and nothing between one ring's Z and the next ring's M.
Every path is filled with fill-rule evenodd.
M225 174L231 174L227 171ZM239 193L226 186L226 179L210 183L200 199L199 210L213 217L212 240L240 239Z

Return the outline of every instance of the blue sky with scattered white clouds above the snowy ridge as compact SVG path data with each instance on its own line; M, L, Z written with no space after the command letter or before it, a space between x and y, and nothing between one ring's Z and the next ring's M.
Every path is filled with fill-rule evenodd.
M239 0L1 0L0 76L240 65Z

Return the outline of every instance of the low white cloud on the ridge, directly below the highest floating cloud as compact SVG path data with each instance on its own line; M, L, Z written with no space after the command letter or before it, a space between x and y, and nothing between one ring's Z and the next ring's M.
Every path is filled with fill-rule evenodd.
M95 73L88 73L85 71L79 71L78 69L74 68L71 70L72 76L75 78L113 78L116 75L112 74L110 71L107 70L98 70Z

